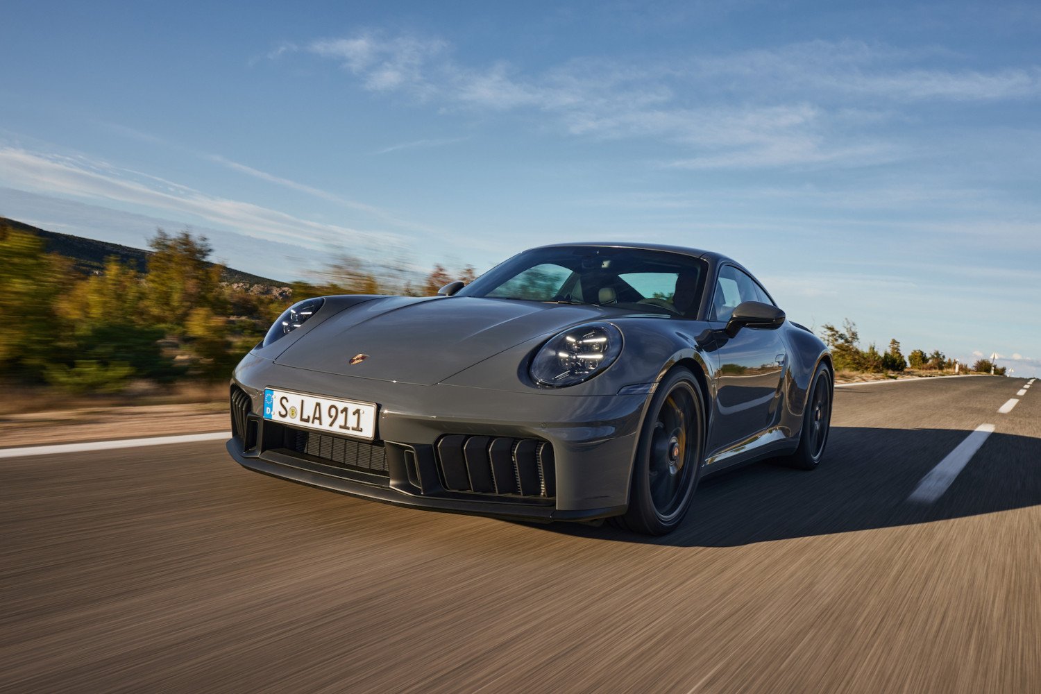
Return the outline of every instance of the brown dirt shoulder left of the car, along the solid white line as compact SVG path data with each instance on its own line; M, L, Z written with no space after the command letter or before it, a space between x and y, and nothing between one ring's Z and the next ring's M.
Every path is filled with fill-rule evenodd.
M224 432L227 402L92 407L0 415L0 447Z

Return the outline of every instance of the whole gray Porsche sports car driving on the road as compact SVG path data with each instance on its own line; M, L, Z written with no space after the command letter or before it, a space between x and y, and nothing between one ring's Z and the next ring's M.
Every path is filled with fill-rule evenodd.
M705 474L816 467L832 380L730 258L547 246L437 297L295 304L235 368L228 451L374 500L664 534Z

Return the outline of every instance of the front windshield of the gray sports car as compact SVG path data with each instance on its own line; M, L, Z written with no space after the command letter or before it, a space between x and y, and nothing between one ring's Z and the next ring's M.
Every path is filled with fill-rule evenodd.
M457 295L596 304L690 317L700 304L704 277L705 261L678 253L557 247L516 255Z

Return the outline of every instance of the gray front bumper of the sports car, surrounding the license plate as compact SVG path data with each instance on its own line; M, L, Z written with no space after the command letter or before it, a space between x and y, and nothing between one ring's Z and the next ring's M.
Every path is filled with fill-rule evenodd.
M589 520L625 512L646 400L640 394L547 396L538 391L390 383L287 367L255 356L235 369L232 387L249 399L252 413L262 411L265 387L379 405L378 440L375 446L362 444L385 457L378 469L370 469L367 463L337 464L324 459L329 455L325 453L287 449L281 443L286 432L279 430L295 428L250 414L248 423L235 427L242 434L227 447L251 470L399 506L541 521ZM460 435L551 444L553 493L548 495L544 485L542 495L534 496L449 488L437 443ZM318 453L318 447L307 451ZM372 451L364 453L365 460Z

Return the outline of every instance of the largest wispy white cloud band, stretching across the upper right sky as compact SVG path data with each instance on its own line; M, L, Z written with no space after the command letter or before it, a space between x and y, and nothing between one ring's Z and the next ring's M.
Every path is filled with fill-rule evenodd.
M337 61L369 91L440 109L527 110L552 115L573 135L680 145L678 156L663 163L681 169L878 164L905 153L861 126L899 118L900 104L1041 97L1037 66L924 68L919 63L932 52L863 42L814 41L670 61L580 58L539 73L504 60L467 65L443 40L378 31L300 50Z

